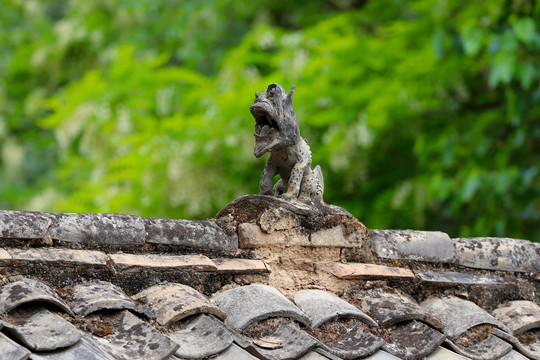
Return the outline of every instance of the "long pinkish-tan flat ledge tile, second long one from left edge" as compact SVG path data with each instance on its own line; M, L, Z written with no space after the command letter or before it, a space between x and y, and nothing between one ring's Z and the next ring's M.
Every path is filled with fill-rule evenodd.
M148 267L153 269L194 268L217 271L217 266L204 255L108 254L120 269Z

